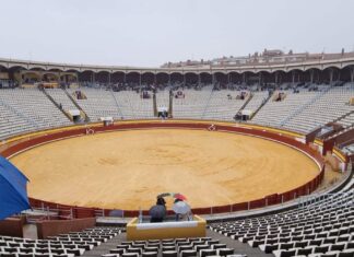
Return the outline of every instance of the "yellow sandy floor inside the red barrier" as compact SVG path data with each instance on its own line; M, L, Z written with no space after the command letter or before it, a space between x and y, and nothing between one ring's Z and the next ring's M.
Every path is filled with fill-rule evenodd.
M193 208L283 192L314 178L316 163L272 141L205 130L131 130L45 144L11 160L31 197L67 205L148 209L181 192Z

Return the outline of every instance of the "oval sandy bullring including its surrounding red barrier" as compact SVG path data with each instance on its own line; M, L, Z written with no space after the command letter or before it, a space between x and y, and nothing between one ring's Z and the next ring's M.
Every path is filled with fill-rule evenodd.
M323 177L322 159L310 148L228 122L137 120L63 128L7 151L28 176L34 203L119 209L126 215L148 210L165 191L188 196L196 213L259 208L307 195Z

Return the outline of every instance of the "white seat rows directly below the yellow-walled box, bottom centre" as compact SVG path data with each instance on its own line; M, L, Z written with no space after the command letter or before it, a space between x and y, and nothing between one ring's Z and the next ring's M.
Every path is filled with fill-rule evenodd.
M219 240L211 237L192 237L176 240L150 240L121 242L109 254L103 257L206 257L206 256L231 256L235 254L234 248L221 244ZM238 255L243 257L245 255Z

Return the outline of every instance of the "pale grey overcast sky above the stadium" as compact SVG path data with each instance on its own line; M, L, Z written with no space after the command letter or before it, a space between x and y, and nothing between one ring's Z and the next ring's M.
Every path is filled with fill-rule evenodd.
M92 65L354 50L354 0L1 0L0 57Z

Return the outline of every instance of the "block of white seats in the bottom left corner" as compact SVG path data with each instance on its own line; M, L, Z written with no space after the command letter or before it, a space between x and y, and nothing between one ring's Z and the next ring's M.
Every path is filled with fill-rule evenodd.
M74 257L83 255L120 234L119 229L94 227L47 240L0 236L0 256L4 257Z

